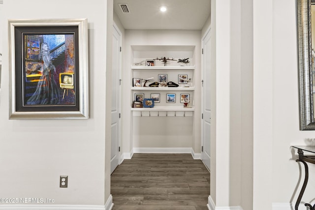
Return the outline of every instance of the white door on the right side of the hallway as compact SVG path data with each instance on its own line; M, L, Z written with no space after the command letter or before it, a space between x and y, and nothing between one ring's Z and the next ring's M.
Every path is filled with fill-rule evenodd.
M201 159L210 170L210 128L211 128L211 106L210 106L210 69L211 69L211 30L202 39L202 121L201 121Z

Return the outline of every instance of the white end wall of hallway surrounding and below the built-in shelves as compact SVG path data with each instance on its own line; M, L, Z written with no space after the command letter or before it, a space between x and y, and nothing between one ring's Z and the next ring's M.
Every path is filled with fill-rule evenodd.
M140 148L152 148L152 147L185 147L185 148L193 148L193 150L197 153L200 153L200 66L201 66L201 48L200 48L200 40L201 34L200 30L126 30L126 42L125 42L125 56L123 61L123 101L122 101L122 109L123 113L125 113L123 119L123 139L122 145L124 147L124 152L129 152L133 147ZM152 120L157 117L146 118L142 117L131 117L130 114L130 104L131 95L130 87L131 87L131 72L130 72L130 64L132 63L131 59L131 47L132 45L195 45L195 91L194 91L194 100L195 100L195 111L193 117L176 117L171 119L171 117L164 118L167 123L172 124L169 128L171 128L169 133L165 133L163 135L164 138L153 136L153 135L143 135L143 132L149 132L148 129L161 130L162 127L158 127L158 124L155 121L160 122L162 118L158 118L157 120ZM158 55L161 56L161 55ZM182 118L182 119L181 119ZM144 122L144 120L146 120ZM187 121L189 120L189 121ZM185 122L185 123L184 123ZM129 124L130 123L130 124ZM161 122L162 123L162 122ZM183 124L184 123L184 124ZM150 125L150 126L148 126ZM165 124L164 124L165 125ZM147 126L147 127L146 127ZM155 127L156 126L156 127ZM184 126L184 127L180 127ZM130 127L130 130L129 130ZM183 133L183 131L187 128L190 130L193 135L189 134L190 138L186 136L182 136L181 138L177 137L177 134ZM133 133L133 129L135 132ZM153 130L154 131L154 130ZM173 131L173 133L171 132ZM142 133L141 133L142 132ZM176 133L177 132L177 133ZM150 133L150 132L149 132ZM129 136L128 136L129 135ZM172 137L169 137L173 135ZM168 136L168 137L167 137ZM167 137L167 138L166 138ZM158 138L158 139L157 139ZM186 138L186 139L185 139ZM125 147L126 146L126 147ZM129 148L127 147L129 146Z

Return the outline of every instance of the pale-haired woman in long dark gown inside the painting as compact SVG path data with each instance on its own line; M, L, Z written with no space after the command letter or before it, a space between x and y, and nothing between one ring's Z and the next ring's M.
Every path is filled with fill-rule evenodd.
M43 61L35 92L28 99L28 105L56 105L60 103L60 88L55 80L56 67L50 60L50 50L46 42L41 44L40 59Z

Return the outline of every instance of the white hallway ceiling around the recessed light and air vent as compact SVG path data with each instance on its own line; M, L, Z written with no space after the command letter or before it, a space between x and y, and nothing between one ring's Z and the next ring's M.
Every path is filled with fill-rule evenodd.
M211 0L114 0L114 12L125 29L201 30L210 15ZM130 13L123 13L126 3ZM159 7L167 11L162 13Z

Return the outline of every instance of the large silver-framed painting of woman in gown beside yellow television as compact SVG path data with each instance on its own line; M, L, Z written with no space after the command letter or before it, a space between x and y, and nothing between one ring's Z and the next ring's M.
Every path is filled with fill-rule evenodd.
M88 119L87 19L9 20L10 119Z

